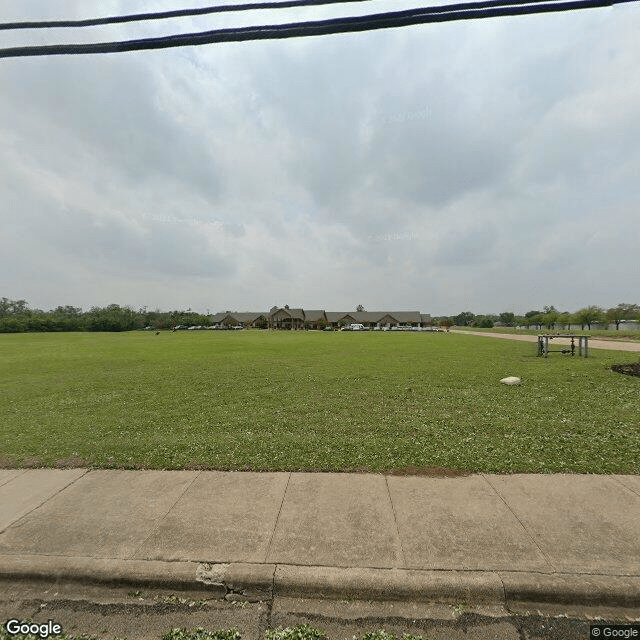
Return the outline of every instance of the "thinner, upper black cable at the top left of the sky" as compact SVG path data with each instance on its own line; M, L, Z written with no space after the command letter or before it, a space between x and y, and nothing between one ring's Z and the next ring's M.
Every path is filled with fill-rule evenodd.
M106 18L87 18L85 20L40 20L38 22L3 22L0 31L10 29L49 29L53 27L96 27L105 24L121 24L123 22L142 22L143 20L165 20L166 18L185 18L203 16L210 13L227 11L253 11L256 9L289 9L291 7L313 7L325 4L347 4L351 2L371 2L371 0L282 0L281 2L252 2L248 4L227 4L215 7L199 7L197 9L174 9L155 13L133 13L124 16Z

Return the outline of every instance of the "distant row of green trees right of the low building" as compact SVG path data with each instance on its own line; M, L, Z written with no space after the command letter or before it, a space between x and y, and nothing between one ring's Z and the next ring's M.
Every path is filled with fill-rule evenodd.
M524 315L516 315L510 311L505 311L499 315L474 315L471 311L463 311L457 316L443 316L438 318L438 323L444 326L458 327L480 327L492 328L502 327L525 327L527 329L555 329L556 326L565 327L587 327L591 330L592 324L615 324L616 329L620 329L622 321L640 322L640 306L627 302L621 302L615 307L604 309L596 305L583 307L571 313L569 311L558 311L554 306L544 307L542 311L532 309Z

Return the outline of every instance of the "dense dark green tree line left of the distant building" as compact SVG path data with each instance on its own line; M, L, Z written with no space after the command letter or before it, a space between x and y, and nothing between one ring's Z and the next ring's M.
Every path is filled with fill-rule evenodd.
M137 311L129 306L110 304L91 307L60 306L50 311L31 309L25 300L0 299L0 333L33 331L133 331L151 327L171 329L177 325L208 325L211 319L188 309L187 311Z

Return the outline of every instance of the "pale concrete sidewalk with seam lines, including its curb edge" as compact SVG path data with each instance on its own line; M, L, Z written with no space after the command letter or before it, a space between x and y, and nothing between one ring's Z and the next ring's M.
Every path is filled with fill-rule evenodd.
M0 578L640 609L640 476L2 470Z

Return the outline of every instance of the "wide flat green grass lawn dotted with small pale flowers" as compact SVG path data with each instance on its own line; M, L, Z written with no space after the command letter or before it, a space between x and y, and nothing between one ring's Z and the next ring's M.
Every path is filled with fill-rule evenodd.
M0 458L640 473L640 378L608 369L639 355L451 333L0 335Z

